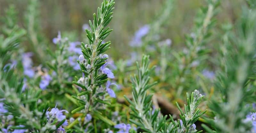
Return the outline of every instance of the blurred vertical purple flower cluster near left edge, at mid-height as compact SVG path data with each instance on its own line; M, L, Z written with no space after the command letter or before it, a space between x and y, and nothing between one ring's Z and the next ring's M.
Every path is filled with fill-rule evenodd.
M33 61L31 59L32 55L33 55L33 53L31 53L31 52L22 54L22 66L24 69L24 74L30 78L32 78L35 75L35 71L32 68L32 66L33 66Z

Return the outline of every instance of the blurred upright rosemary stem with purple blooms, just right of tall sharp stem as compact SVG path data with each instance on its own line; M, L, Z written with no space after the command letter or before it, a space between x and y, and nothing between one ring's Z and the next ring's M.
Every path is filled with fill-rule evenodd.
M164 1L162 10L158 12L153 21L143 25L134 33L129 43L133 49L130 53L130 58L128 60L121 59L116 62L117 69L115 72L119 75L118 83L127 86L129 78L125 75L135 69L133 65L137 60L141 59L143 53L150 55L155 62L154 64L161 64L162 70L166 69L168 56L165 52L170 48L171 39L161 41L161 35L165 32L163 27L168 23L168 18L172 16L171 13L174 8L174 3L174 0ZM161 54L161 56L155 56L156 54ZM161 72L163 72L162 70Z

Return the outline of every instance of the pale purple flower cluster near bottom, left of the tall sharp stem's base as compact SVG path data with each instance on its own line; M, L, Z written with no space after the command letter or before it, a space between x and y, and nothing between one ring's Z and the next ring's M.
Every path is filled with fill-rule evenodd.
M46 117L48 118L48 120L55 120L57 119L58 122L61 122L62 120L66 119L66 115L63 115L63 112L68 113L67 110L59 110L59 108L52 108L51 111L46 111ZM51 121L49 121L51 122ZM63 126L67 126L68 125L68 121L65 120L65 122L62 124Z

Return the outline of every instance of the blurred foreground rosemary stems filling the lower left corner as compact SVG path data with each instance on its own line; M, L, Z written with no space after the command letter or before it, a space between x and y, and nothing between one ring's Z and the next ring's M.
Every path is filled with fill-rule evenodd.
M53 132L61 127L65 120L56 119L59 116L49 114L47 103L40 104L41 90L23 89L23 81L14 73L15 64L4 65L10 60L11 54L17 50L18 39L25 33L24 29L14 27L8 37L0 36L1 132Z

